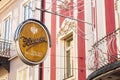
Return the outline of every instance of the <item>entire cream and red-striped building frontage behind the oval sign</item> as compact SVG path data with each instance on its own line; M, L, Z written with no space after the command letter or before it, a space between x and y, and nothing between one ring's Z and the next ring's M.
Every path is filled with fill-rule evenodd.
M20 60L14 42L27 19L51 35L47 58L36 66ZM120 79L120 0L1 0L0 27L0 80Z

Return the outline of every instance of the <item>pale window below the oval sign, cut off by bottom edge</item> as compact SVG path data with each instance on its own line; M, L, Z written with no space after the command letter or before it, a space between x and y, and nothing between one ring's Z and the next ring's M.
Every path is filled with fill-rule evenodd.
M29 76L28 76L28 67L23 68L21 70L18 70L17 72L17 80L29 80Z

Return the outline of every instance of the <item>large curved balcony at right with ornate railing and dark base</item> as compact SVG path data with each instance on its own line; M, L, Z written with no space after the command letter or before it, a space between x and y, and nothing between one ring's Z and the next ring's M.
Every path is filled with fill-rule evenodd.
M87 56L87 80L120 80L120 28L96 42Z

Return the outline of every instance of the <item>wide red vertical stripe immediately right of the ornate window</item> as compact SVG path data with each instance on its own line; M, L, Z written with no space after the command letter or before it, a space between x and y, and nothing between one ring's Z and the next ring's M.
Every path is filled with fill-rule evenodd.
M78 0L77 2L79 2ZM84 5L84 0L78 4L78 11L84 10L83 7L79 7ZM84 12L78 13L78 19L84 20ZM82 22L78 22L78 28L85 32L85 24ZM78 34L80 32L78 31ZM85 39L78 36L78 80L86 80L86 65L85 65Z

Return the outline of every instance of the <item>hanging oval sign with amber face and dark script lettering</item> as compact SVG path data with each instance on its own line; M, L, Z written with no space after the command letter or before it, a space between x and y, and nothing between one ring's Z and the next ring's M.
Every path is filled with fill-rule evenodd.
M22 22L15 32L14 40L20 59L28 65L43 62L51 47L48 29L35 19Z

